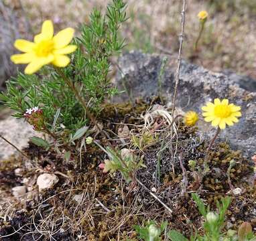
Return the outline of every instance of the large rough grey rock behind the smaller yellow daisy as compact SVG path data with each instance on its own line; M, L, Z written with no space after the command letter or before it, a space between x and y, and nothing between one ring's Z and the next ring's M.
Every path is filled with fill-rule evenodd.
M168 56L167 56L168 57ZM174 92L174 73L176 59L168 57L168 64L162 80L159 81L159 70L164 56L130 52L119 58L116 83L119 90L127 90L129 94L117 96L114 101L122 102L136 98L148 99L159 92L171 104ZM226 128L220 138L227 140L234 149L243 151L251 157L256 151L256 82L232 72L215 73L202 67L183 61L180 70L177 106L182 110L201 112L205 102L214 98L228 98L230 102L241 106L242 117L239 123ZM162 86L161 91L159 86ZM198 123L202 133L212 136L214 129L208 123Z

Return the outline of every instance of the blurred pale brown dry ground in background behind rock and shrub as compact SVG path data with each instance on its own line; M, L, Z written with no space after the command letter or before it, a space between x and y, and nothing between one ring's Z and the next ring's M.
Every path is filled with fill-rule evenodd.
M256 1L187 2L184 58L213 71L230 69L256 78ZM79 29L82 23L88 22L93 7L103 9L108 1L22 0L21 3L36 33L45 19L53 19L56 29L66 26ZM129 0L127 3L130 18L122 29L127 37L127 49L176 54L182 1ZM195 54L193 46L199 31L200 10L208 11L209 17L199 52Z

